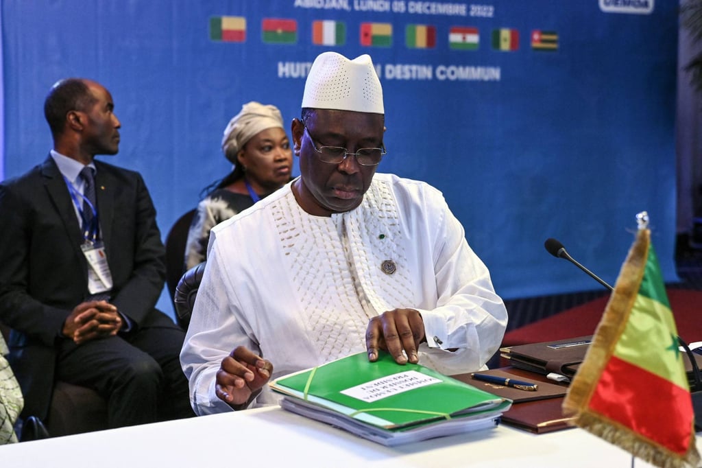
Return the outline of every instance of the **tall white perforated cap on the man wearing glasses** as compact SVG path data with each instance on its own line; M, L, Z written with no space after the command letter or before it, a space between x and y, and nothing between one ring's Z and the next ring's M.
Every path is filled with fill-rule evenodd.
M302 107L385 114L383 88L371 57L349 60L336 52L319 54L307 75Z

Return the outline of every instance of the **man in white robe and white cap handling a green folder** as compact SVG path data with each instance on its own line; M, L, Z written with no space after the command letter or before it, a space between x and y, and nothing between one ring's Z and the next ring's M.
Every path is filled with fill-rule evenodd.
M505 306L442 194L376 174L371 58L322 53L302 108L300 177L212 230L180 355L199 415L274 403L270 378L364 350L450 375L501 343Z

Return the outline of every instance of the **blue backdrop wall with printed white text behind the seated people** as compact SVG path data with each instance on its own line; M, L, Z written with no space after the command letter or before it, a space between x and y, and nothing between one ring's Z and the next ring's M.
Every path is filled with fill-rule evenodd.
M388 127L379 171L444 192L503 297L597 289L545 252L549 237L614 282L642 210L675 280L677 2L621 3L4 0L5 176L51 148L51 84L95 79L123 125L119 155L102 158L143 174L165 237L230 170L219 144L242 103L289 122L318 53L369 53ZM336 44L316 44L322 20ZM534 48L538 31L555 50ZM452 45L451 32L469 34ZM172 313L165 293L159 306Z

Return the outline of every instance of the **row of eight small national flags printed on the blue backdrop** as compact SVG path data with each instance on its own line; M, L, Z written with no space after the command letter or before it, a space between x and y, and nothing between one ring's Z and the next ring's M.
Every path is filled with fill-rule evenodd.
M265 44L297 44L298 22L286 18L263 18L261 39ZM391 47L393 28L389 22L362 22L359 44L366 47ZM445 37L445 36L444 36ZM470 26L449 27L447 44L456 51L477 51L480 48L480 30ZM312 44L318 46L343 46L346 44L346 23L337 20L312 21ZM210 39L221 42L246 42L246 18L243 16L213 16L210 18ZM519 50L519 31L501 27L490 31L490 47L494 51ZM531 32L531 49L557 51L558 33L534 30ZM435 48L437 27L434 25L406 25L404 44L407 48Z

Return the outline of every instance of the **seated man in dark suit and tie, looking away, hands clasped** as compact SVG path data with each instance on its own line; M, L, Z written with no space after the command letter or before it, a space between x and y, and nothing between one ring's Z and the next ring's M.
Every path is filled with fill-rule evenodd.
M192 416L178 353L184 332L154 308L164 246L140 174L117 154L112 96L65 79L46 97L46 160L0 185L0 321L23 415L45 417L55 380L95 389L110 427Z

